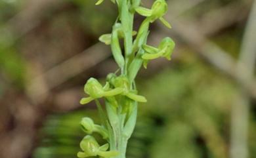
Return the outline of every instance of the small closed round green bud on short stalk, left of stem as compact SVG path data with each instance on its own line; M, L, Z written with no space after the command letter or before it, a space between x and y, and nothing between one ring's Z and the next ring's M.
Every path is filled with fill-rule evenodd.
M93 120L89 117L84 117L81 120L81 127L83 131L86 132L87 134L93 134L93 132L97 132L104 139L108 138L108 131L104 127L100 125L96 125L93 122Z

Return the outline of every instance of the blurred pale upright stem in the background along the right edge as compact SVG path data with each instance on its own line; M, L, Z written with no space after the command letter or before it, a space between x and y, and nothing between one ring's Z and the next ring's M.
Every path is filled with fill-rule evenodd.
M237 77L242 83L252 83L256 61L256 1L251 8L251 14L245 28L240 58L237 64ZM249 127L250 97L245 87L240 87L240 94L236 98L231 111L231 141L230 157L247 158L248 127Z

